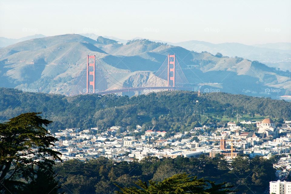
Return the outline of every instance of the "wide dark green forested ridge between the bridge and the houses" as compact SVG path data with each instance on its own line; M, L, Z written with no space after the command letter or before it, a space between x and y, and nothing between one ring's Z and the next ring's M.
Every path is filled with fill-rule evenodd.
M52 120L49 129L72 127L107 128L112 125L168 131L186 131L216 122L209 113L226 115L258 114L276 119L291 119L291 103L283 100L257 98L228 93L165 91L129 98L117 95L64 96L21 92L0 88L0 117L2 121L25 112L42 112Z

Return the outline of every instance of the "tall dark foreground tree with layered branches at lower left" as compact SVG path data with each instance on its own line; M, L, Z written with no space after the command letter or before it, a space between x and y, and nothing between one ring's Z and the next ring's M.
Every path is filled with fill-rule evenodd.
M0 191L38 193L36 185L47 180L45 187L57 193L52 167L60 153L50 148L57 140L44 128L50 123L35 112L0 123Z

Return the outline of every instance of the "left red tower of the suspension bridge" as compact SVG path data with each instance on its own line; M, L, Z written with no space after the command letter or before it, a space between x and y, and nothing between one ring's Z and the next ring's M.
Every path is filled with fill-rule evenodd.
M95 93L95 55L87 55L86 93Z

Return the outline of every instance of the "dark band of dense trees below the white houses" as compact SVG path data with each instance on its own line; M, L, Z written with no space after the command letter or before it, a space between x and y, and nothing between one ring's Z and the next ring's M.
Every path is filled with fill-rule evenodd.
M78 160L58 163L55 171L58 179L65 185L62 191L68 194L109 193L119 190L116 185L130 191L130 188L137 187L138 180L139 184L155 182L155 185L183 173L190 177L197 176L195 181L201 178L209 180L205 182L208 185L212 181L216 182L220 188L224 186L223 182L227 182L225 186L233 185L229 189L238 189L238 194L263 193L269 188L269 181L276 179L271 160L259 157L250 159L248 156L239 156L232 164L223 159L223 156L210 158L206 155L175 159L146 157L140 162L115 162L99 157L85 163ZM152 189L151 184L145 186ZM174 190L175 186L171 187Z

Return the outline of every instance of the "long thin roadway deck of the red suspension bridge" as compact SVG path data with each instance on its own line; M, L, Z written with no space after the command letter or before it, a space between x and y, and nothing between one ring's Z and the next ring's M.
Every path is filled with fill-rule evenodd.
M189 90L192 91L191 87L139 87L139 88L125 88L125 89L115 89L115 90L106 90L102 92L95 92L96 94L113 94L119 92L132 92L132 91L141 91L141 90L161 90L161 89L169 89L169 90Z

